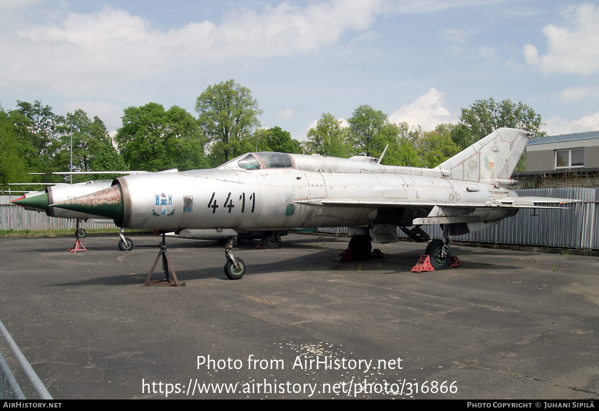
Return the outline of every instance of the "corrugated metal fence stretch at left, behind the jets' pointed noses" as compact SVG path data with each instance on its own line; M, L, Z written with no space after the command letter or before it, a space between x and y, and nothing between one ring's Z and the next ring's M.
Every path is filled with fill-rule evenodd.
M74 228L72 219L49 217L46 213L27 211L20 205L11 204L18 195L0 195L0 229L22 230L44 230L59 228ZM81 228L116 228L113 223L86 223L82 222Z

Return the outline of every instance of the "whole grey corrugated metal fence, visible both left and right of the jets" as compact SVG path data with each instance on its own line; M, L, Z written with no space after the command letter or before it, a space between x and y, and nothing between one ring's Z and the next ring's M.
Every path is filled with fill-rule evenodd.
M521 196L557 197L582 200L568 204L567 209L555 210L523 208L514 217L498 225L456 237L463 241L494 244L519 244L531 246L567 247L573 249L599 249L599 188L544 188L516 190ZM26 211L10 204L17 196L0 196L0 229L41 230L71 228L73 220L48 217L45 213ZM83 223L81 228L115 228L114 224ZM431 238L440 238L438 225L422 226ZM337 234L347 233L347 228L322 229ZM407 237L400 230L400 237Z

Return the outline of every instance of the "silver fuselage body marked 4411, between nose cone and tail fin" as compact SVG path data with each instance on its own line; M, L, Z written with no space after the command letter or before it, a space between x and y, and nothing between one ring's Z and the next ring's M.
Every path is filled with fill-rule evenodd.
M262 154L257 153L256 157ZM441 171L393 167L355 159L291 155L294 167L244 170L241 156L211 170L119 177L123 228L292 229L368 226L381 216L413 225L429 215L430 204L484 204L515 193L480 182L444 179ZM376 201L373 201L376 199ZM406 205L396 204L405 200ZM408 204L409 203L409 204ZM472 221L500 220L506 208L472 210Z

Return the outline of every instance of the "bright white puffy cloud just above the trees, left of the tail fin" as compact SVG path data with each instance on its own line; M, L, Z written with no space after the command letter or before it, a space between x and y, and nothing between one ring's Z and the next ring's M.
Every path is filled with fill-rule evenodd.
M412 104L404 104L395 113L389 116L389 122L407 122L410 126L421 126L424 131L434 129L442 123L452 122L449 110L443 107L444 93L431 88L416 99Z

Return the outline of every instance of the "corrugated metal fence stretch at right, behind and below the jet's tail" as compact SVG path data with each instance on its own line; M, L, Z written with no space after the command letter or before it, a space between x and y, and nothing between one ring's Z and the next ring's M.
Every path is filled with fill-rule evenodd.
M599 249L599 188L544 188L516 190L521 196L571 198L582 203L568 204L567 209L556 210L523 208L513 217L498 225L455 237L460 241L492 244L567 247L572 249ZM438 225L422 226L431 238L441 238ZM343 227L321 231L347 233ZM400 237L406 237L399 231Z

